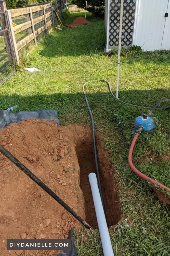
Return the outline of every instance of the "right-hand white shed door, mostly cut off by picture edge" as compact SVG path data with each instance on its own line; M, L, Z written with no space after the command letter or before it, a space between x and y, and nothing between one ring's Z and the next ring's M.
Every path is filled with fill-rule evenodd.
M166 13L168 13L168 17L165 18L165 28L164 28L161 49L169 50L170 49L170 1L168 3Z

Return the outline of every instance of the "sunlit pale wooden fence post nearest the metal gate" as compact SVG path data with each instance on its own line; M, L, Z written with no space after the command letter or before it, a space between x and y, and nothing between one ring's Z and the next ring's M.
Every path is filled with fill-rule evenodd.
M14 49L15 60L17 63L19 63L18 49L17 49L16 40L15 40L14 29L12 26L12 18L11 18L10 10L6 10L6 17L7 17L7 21L8 21L8 29L11 34L11 41L12 41L12 45L13 45L13 49Z

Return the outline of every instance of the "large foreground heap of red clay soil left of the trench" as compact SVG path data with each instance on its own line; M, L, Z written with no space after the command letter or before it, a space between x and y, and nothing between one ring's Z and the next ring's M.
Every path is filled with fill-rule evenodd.
M0 130L0 143L85 219L80 167L68 127L30 119ZM2 154L0 189L0 255L53 255L7 251L6 239L63 239L72 227L80 229L71 214Z

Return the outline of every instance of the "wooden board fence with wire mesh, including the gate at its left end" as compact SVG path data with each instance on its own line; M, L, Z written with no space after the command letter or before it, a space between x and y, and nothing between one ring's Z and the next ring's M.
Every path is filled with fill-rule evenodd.
M58 22L55 12L61 17L62 12L67 9L67 0L56 0L52 3L46 2L11 10L6 10L4 2L0 7L0 10L5 7L6 13L6 17L3 12L3 15L0 14L1 85L16 71L14 61L19 63L18 53L21 49L31 43L37 45L36 41L41 40L54 23Z

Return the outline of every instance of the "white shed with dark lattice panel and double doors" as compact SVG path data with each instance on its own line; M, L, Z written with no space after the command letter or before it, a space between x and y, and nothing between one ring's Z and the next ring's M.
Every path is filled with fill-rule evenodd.
M121 0L105 0L106 52L119 44ZM124 0L122 46L170 50L170 0Z

